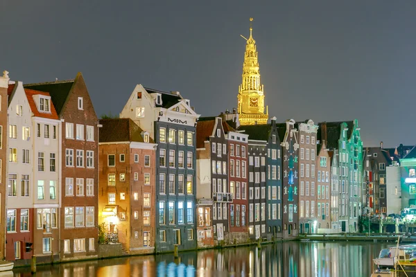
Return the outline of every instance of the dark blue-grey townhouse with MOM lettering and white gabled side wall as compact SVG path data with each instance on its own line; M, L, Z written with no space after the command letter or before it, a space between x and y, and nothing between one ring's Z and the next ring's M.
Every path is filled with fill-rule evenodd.
M157 143L155 252L197 248L196 121L188 99L178 91L137 84L120 118L131 118Z

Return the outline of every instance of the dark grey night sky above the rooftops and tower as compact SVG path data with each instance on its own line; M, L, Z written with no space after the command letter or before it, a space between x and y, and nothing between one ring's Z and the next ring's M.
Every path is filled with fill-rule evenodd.
M254 17L270 117L357 118L365 146L394 147L416 143L415 15L416 1L0 0L0 70L24 83L81 71L98 116L136 84L214 116L236 107Z

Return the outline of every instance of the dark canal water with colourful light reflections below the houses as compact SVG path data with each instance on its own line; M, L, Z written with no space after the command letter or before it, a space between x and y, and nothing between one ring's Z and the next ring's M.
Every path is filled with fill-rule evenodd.
M38 266L36 277L124 276L343 276L367 277L387 242L284 242L257 247L189 251ZM14 276L31 276L30 267Z

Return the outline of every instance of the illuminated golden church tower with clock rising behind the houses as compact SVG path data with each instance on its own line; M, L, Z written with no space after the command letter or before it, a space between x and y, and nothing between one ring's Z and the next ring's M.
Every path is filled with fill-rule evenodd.
M266 124L268 109L264 111L263 84L260 83L259 60L257 59L256 41L252 37L250 18L250 37L245 45L243 62L243 82L239 86L237 107L241 125Z

